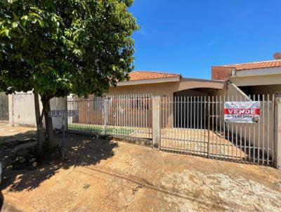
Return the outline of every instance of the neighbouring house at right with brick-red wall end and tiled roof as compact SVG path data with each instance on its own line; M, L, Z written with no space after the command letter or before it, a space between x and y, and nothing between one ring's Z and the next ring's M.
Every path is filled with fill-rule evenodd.
M231 81L247 95L281 92L281 60L211 67L211 79Z

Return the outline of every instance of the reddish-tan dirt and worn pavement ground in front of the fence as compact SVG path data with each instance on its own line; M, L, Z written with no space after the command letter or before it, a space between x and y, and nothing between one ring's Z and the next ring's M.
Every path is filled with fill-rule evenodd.
M0 142L32 135L30 128L0 125ZM66 161L50 161L35 170L4 171L3 211L281 208L281 171L275 168L158 152L80 135L67 135L66 144ZM2 155L6 161L8 153Z

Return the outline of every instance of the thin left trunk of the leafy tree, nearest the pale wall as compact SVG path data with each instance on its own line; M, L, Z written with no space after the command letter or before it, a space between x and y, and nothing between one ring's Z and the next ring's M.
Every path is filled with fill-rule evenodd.
M40 156L44 140L43 111L40 113L39 95L34 93L35 117L37 124L37 154Z

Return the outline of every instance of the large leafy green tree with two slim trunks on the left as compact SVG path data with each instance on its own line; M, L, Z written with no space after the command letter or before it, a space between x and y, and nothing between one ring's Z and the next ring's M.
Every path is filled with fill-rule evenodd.
M132 4L133 0L0 0L0 91L33 91L39 138L45 116L46 135L52 140L51 98L101 95L128 79L134 60L131 36L138 29L128 11Z

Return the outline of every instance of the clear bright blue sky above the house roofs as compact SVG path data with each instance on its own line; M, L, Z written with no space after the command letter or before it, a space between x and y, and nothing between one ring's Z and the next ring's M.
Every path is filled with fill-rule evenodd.
M135 69L210 79L212 65L272 60L280 0L135 0Z

